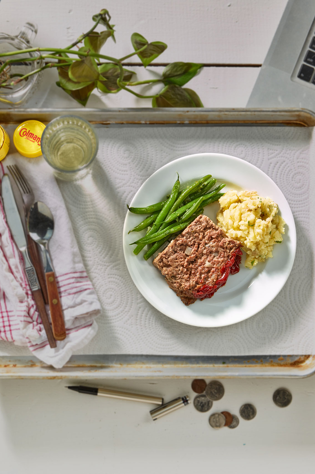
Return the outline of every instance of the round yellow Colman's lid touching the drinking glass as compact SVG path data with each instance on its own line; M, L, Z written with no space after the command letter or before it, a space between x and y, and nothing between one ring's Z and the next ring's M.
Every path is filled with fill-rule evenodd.
M27 158L42 155L41 137L45 125L38 120L26 120L19 125L13 135L13 143L17 151Z

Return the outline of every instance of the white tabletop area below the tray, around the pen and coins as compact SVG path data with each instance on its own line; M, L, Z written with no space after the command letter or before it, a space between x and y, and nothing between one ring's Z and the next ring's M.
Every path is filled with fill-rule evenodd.
M1 473L314 473L314 377L223 380L225 395L210 412L188 405L155 422L149 416L153 405L64 388L72 382L1 380ZM190 385L191 380L122 380L107 387L170 401L193 398ZM293 401L278 408L272 393L283 385ZM240 419L236 429L209 426L210 413L238 414L245 402L257 409L253 420Z

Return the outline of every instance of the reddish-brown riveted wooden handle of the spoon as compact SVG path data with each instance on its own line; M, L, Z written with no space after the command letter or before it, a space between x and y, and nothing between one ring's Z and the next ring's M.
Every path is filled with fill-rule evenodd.
M54 272L45 273L48 301L50 309L50 319L52 320L53 335L57 341L62 341L66 337L63 314L59 299L59 293Z

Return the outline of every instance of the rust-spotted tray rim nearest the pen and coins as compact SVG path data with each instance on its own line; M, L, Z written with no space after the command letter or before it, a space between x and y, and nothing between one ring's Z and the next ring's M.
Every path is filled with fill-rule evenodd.
M72 356L61 369L0 357L0 378L286 378L315 372L315 356Z

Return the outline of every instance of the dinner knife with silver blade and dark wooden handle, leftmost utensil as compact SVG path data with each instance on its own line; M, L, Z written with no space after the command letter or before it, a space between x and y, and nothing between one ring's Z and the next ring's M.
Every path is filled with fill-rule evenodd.
M35 268L33 264L31 263L28 256L27 242L26 242L26 237L24 233L24 228L22 225L20 214L17 209L17 203L14 198L14 194L12 191L8 174L4 174L1 181L1 196L2 196L2 201L3 201L3 207L6 213L7 223L10 228L11 235L14 238L15 243L17 244L23 256L27 280L30 284L31 291L32 291L32 294L37 306L37 310L42 319L42 323L47 335L49 345L51 347L56 347L57 346L56 341L53 337L53 331L52 331L52 328L47 316L44 298L43 298L42 291L39 287Z

